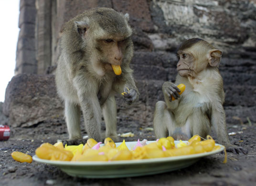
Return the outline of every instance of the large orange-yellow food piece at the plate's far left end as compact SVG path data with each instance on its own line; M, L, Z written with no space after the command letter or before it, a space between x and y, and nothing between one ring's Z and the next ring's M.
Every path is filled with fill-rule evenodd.
M58 149L49 143L44 143L38 147L35 154L41 159L59 161L70 161L74 156L71 151Z

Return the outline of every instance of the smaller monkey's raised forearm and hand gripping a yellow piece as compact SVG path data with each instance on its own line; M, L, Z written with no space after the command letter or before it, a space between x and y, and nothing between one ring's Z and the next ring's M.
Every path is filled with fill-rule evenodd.
M171 82L165 82L162 85L162 92L164 95L165 103L170 110L174 110L177 108L179 104L179 100L177 100L180 97L180 90L177 88L177 86L174 83ZM171 96L173 96L176 100L171 101Z

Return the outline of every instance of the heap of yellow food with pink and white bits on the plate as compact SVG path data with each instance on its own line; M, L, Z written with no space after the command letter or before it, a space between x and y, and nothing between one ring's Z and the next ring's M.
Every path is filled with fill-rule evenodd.
M65 145L64 147L62 142L54 145L44 143L36 149L35 154L39 158L47 160L118 161L192 155L221 148L219 145L215 145L213 138L209 135L204 141L201 141L199 135L194 135L187 144L181 141L176 146L171 136L160 138L156 142L144 146L138 140L137 145L132 150L128 149L125 140L118 147L109 137L105 139L105 145L100 146L100 144L101 142L97 143L92 138L88 139L85 145Z

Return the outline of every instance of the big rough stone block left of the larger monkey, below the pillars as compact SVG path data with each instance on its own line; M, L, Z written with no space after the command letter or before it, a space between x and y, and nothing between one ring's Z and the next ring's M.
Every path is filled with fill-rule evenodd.
M7 86L3 112L13 127L62 117L63 108L53 75L19 74Z

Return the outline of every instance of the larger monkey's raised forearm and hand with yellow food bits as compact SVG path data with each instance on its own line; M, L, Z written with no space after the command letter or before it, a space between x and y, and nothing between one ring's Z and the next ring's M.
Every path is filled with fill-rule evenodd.
M113 89L124 96L128 104L139 99L139 91L132 77L132 70L127 66L113 83Z

